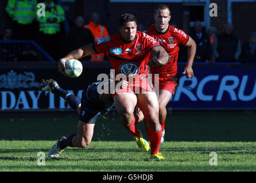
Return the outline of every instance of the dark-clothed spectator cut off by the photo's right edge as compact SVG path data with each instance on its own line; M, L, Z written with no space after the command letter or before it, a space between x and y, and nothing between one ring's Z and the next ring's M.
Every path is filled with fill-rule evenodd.
M256 32L252 32L249 41L243 43L241 62L256 63Z

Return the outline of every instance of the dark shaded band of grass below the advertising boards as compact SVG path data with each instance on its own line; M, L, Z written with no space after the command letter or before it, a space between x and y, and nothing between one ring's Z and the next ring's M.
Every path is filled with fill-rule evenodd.
M40 116L41 115L41 116ZM177 113L165 122L166 141L256 141L256 114L241 112ZM51 116L4 117L0 122L0 140L56 140L77 132L77 116L52 113ZM23 120L23 121L22 121ZM137 125L146 140L143 122ZM119 117L99 119L92 141L130 141L133 137L120 123Z

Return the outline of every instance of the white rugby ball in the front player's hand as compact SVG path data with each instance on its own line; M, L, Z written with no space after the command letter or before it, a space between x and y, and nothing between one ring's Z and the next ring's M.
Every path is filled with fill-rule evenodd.
M69 59L69 61L65 62L65 73L71 77L76 78L82 74L83 65L77 59Z

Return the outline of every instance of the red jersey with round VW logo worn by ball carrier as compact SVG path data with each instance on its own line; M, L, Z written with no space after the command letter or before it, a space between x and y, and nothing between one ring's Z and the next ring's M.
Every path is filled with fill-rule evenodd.
M126 77L141 77L148 75L149 52L152 47L159 45L148 34L137 31L133 42L124 42L120 33L104 37L95 43L96 53L107 53L110 57L115 76L119 73ZM137 75L138 74L138 75Z

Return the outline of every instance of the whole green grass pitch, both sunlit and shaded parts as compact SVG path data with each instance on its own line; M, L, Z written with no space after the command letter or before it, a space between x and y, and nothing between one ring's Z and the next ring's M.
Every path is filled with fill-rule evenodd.
M3 114L3 113L2 113ZM175 112L168 115L163 161L148 161L118 117L96 122L91 144L46 158L57 138L77 131L75 113L5 113L0 117L0 171L256 171L255 113ZM143 124L138 124L145 138ZM42 154L40 154L40 152ZM211 165L216 152L217 164ZM39 154L38 154L39 153ZM38 165L39 162L39 165ZM215 161L214 161L215 162ZM215 163L216 163L215 162Z

